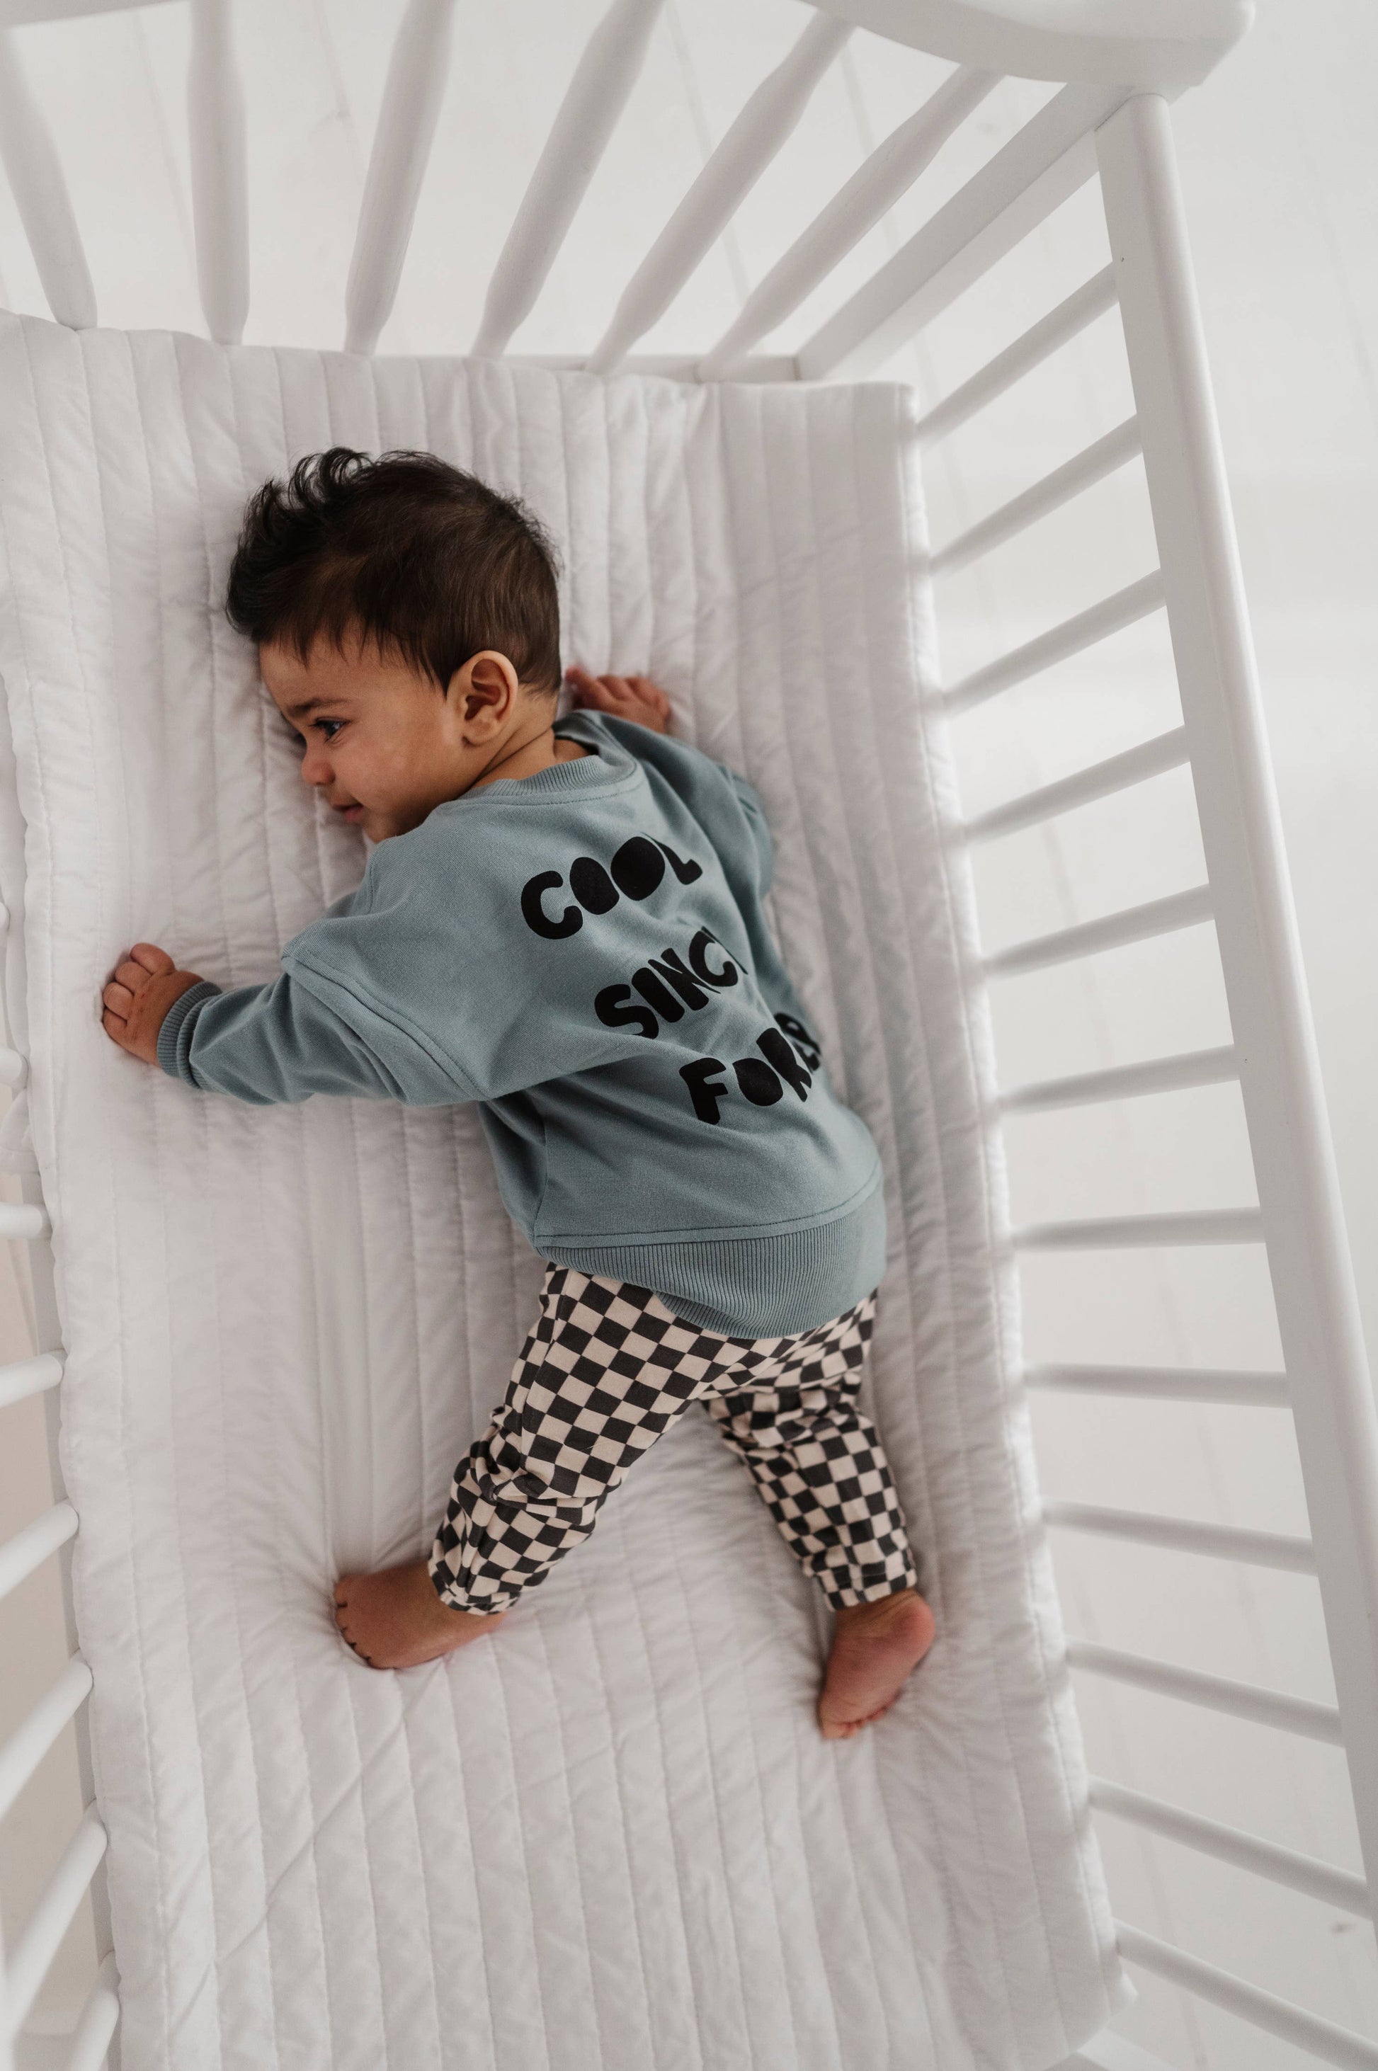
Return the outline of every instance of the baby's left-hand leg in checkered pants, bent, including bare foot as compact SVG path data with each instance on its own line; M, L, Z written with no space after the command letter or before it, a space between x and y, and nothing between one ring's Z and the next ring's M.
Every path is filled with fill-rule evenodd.
M414 1667L491 1632L593 1533L632 1464L702 1392L698 1332L653 1301L547 1270L541 1315L493 1423L456 1468L429 1562L336 1588L340 1630L371 1667Z

